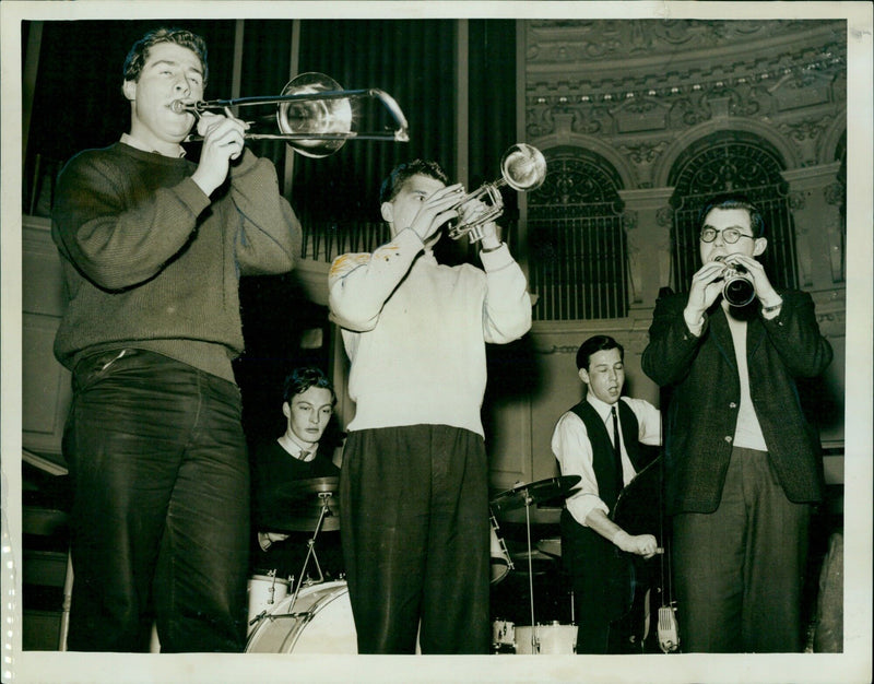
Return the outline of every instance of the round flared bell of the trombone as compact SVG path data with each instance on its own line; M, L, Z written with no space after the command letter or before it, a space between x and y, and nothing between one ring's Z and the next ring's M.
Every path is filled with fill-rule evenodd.
M315 71L298 74L285 85L282 97L303 96L300 99L282 102L276 110L280 130L286 135L300 137L287 141L296 152L320 158L333 154L345 144L352 131L350 98L318 97L320 93L335 94L342 90L331 76Z

